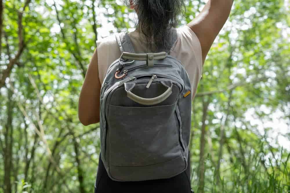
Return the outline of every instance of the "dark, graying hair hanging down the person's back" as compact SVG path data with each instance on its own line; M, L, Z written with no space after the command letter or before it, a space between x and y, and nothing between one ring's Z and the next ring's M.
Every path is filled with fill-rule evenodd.
M144 34L147 49L168 48L169 30L184 15L184 0L132 0L138 15L137 29Z

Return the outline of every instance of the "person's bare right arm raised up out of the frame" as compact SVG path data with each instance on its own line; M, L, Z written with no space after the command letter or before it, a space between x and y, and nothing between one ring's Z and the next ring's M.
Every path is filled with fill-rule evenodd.
M202 48L202 63L216 36L229 17L233 0L209 0L200 14L187 25L197 35Z

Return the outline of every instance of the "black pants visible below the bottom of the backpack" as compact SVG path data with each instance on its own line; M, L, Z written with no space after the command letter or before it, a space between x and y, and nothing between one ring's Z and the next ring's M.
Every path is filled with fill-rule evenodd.
M190 155L190 154L189 154ZM99 166L95 182L95 193L191 193L190 157L187 169L168 179L157 179L136 182L113 181L107 174L99 155Z

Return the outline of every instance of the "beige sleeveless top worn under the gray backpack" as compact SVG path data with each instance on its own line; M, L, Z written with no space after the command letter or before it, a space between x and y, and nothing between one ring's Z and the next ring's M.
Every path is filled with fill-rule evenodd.
M133 31L128 34L135 52L145 53L146 46L140 41L139 33ZM97 41L97 52L99 79L102 84L110 64L121 56L115 35ZM192 98L194 98L202 74L202 51L197 36L187 25L177 28L177 40L169 55L174 56L184 65L190 78Z

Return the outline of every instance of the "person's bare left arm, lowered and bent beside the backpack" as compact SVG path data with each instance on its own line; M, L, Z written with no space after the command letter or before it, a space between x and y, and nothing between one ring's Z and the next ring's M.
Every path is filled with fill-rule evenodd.
M98 72L98 53L97 49L95 49L79 96L79 120L86 126L100 121L100 92L102 85Z

